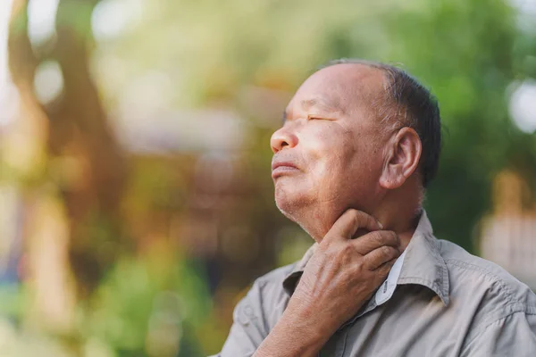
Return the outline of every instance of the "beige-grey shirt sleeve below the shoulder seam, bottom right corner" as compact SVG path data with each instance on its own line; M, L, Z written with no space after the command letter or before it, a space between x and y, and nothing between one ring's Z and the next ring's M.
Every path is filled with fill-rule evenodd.
M461 355L536 356L536 314L518 311L491 323L465 345Z

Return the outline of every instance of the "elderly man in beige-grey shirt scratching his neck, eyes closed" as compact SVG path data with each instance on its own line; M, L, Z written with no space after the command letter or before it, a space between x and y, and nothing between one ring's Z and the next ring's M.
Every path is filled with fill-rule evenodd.
M536 295L432 235L440 112L415 79L331 63L271 145L277 206L316 243L255 281L220 356L536 356Z

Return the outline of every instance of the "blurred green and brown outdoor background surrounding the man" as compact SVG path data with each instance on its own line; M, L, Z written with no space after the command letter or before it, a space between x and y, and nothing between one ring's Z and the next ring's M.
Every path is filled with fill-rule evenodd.
M440 101L437 237L536 287L535 0L2 0L2 356L205 356L312 244L269 138L319 65Z

